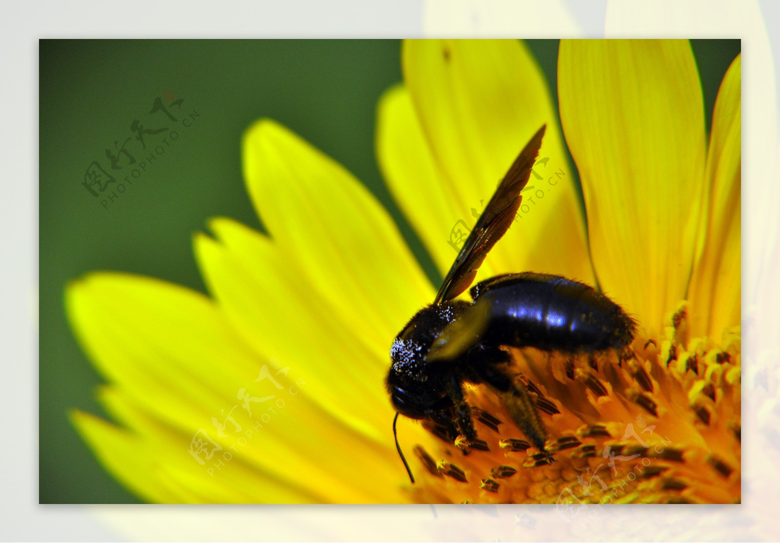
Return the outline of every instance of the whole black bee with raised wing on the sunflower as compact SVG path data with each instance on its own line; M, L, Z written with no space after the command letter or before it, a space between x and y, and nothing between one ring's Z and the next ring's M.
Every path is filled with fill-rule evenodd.
M412 482L395 429L399 415L431 421L453 443L473 443L477 431L463 384L483 384L502 397L517 427L551 462L544 425L526 387L517 386L510 372L508 347L593 354L622 350L633 340L636 323L619 305L590 285L557 275L507 273L472 287L471 301L456 299L512 224L545 128L498 184L433 303L420 309L393 341L385 384L396 411L395 446Z

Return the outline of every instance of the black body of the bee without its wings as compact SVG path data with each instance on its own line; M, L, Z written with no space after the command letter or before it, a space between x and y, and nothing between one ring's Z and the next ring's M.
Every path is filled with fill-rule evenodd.
M569 354L621 349L633 339L635 323L621 307L593 287L556 275L510 273L471 288L473 301L428 305L404 326L391 347L387 386L393 407L409 418L430 418L453 432L448 410L459 383L486 383L513 390L500 365L501 347L535 347ZM477 315L477 340L454 357L431 361L431 347L448 326ZM456 398L453 398L456 397ZM465 433L470 433L466 428Z

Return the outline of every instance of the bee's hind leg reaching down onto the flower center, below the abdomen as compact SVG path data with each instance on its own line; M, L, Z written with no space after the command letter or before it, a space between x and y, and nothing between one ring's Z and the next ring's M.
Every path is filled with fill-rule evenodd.
M501 352L506 355L500 360L500 362L504 362L509 354L505 351ZM534 446L546 453L544 440L547 439L547 432L544 430L536 407L534 407L534 400L530 397L525 386L515 385L512 377L501 368L501 365L501 363L482 364L476 368L482 382L501 394L509 414L512 415L512 420L515 421L518 428L531 440L531 443L534 443ZM551 459L549 454L548 457Z

